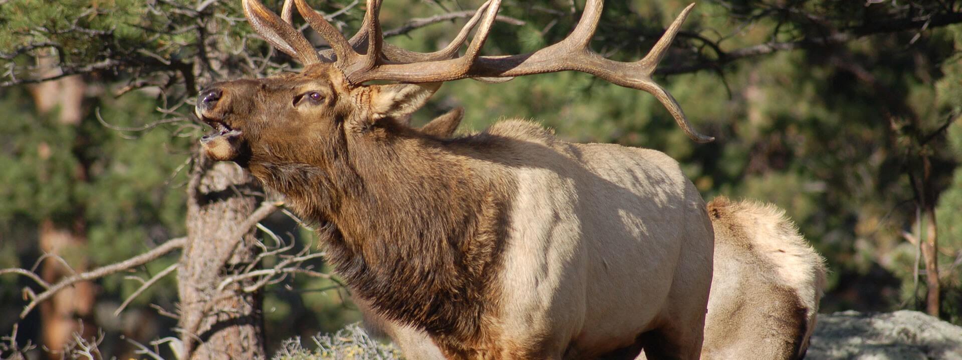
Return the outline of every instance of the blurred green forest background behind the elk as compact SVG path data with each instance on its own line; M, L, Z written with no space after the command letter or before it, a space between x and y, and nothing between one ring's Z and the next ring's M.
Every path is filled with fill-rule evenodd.
M358 0L309 3L348 35L364 13ZM479 4L389 0L381 19L390 42L433 50ZM607 1L593 48L640 59L686 5ZM506 0L482 53L560 40L582 6ZM523 117L570 141L663 151L705 199L786 209L827 259L824 312L917 309L962 324L960 24L956 0L698 2L658 80L696 130L717 137L709 144L680 132L652 96L580 73L445 84L415 121L464 107L461 132ZM63 348L77 342L63 334L80 332L108 355L134 356L135 344L151 342L168 354L164 339L184 336L183 274L170 274L188 260L176 252L71 283L23 319L43 288L13 270L54 283L194 239L192 182L213 165L196 158L207 130L192 97L204 84L299 67L251 32L239 0L0 0L0 333L9 334L0 350ZM257 199L250 204L282 202L241 192ZM245 237L270 256L247 264L325 272L311 228L276 207ZM251 278L268 356L284 339L360 320L336 276Z

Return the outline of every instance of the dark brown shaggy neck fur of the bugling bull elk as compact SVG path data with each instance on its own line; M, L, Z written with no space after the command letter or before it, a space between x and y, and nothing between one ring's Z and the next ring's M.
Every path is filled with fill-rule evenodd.
M324 224L329 261L376 311L424 328L448 351L487 341L478 336L498 306L514 184L476 142L498 140L439 140L391 121L367 131L344 136L326 161L255 157L250 169Z

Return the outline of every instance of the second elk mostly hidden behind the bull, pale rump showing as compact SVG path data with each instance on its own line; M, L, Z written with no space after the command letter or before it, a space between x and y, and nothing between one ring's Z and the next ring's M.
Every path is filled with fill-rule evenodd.
M421 132L451 137L461 109L440 116ZM715 230L714 267L701 359L801 359L815 330L825 281L824 260L772 204L708 203ZM392 324L360 301L365 326L389 334L417 359L443 359L422 331ZM646 359L645 354L638 360Z

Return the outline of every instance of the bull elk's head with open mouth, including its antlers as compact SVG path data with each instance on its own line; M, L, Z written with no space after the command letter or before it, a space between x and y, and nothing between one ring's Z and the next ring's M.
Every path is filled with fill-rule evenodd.
M384 137L406 124L398 119L420 108L440 84L459 79L488 82L557 71L582 71L613 84L645 90L669 109L678 126L697 142L711 141L691 129L677 102L650 76L694 4L687 7L643 60L605 59L588 47L601 15L601 0L589 0L574 31L564 40L529 54L480 56L500 0L482 5L446 48L434 53L404 50L383 41L380 0L369 0L361 31L342 36L304 0L287 0L281 15L258 0L242 0L251 26L277 49L304 64L296 74L213 84L198 96L196 113L215 133L201 139L217 160L248 167L258 162L328 163L343 144L358 137ZM331 49L318 53L291 26L293 7ZM477 26L465 55L458 50ZM367 85L370 81L398 84Z

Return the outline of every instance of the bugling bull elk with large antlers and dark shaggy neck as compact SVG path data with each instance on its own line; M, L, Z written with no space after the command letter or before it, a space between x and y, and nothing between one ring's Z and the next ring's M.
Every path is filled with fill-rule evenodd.
M714 234L676 161L568 143L526 121L445 139L405 120L443 82L572 70L652 93L690 137L710 141L650 78L692 6L643 60L619 62L588 48L600 0L561 42L513 56L479 55L498 0L435 53L385 43L378 0L350 40L304 0L281 15L242 5L304 68L202 90L195 111L215 129L203 152L240 164L316 223L328 261L371 311L446 358L699 356ZM294 7L330 51L294 30Z

